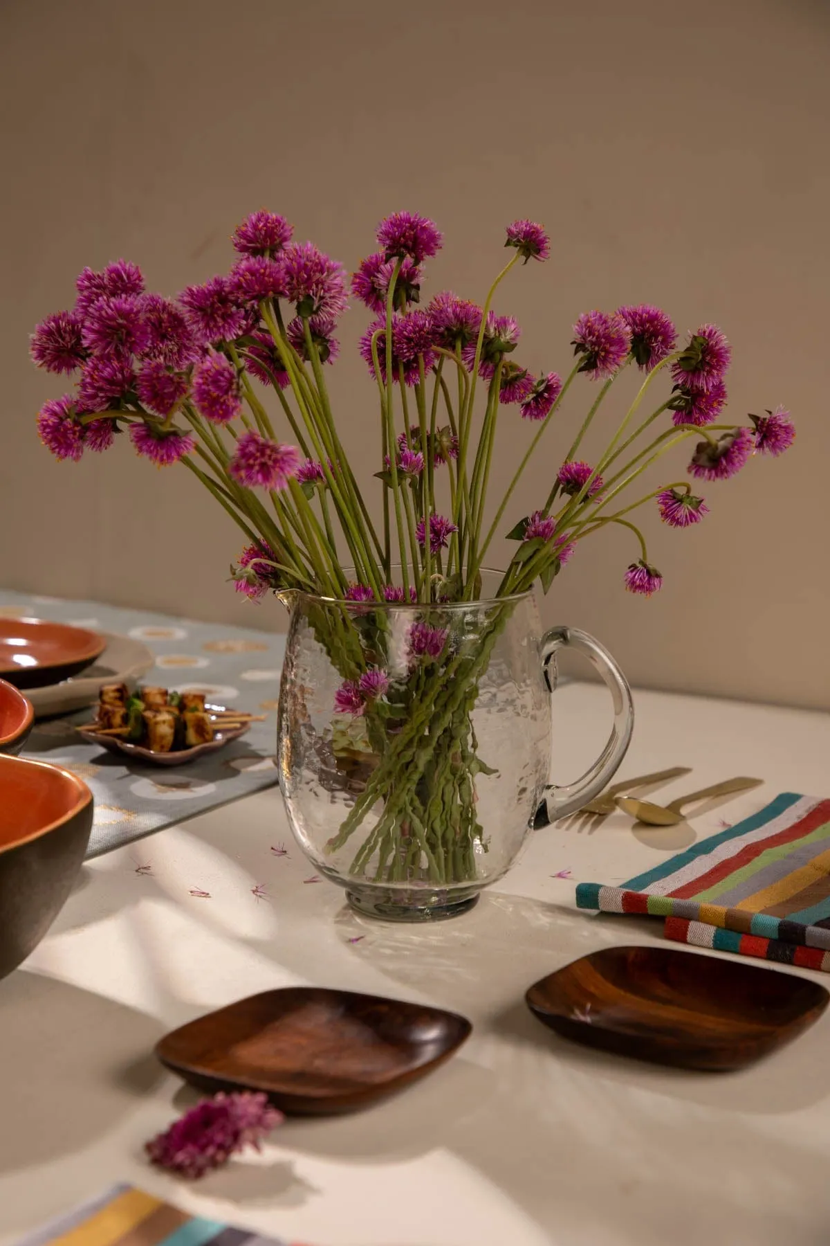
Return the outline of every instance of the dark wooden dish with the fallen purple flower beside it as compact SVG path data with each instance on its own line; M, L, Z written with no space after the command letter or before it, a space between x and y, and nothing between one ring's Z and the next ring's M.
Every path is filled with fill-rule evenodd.
M282 1111L333 1115L417 1082L458 1050L464 1017L399 999L286 987L167 1034L156 1054L200 1090L264 1090Z

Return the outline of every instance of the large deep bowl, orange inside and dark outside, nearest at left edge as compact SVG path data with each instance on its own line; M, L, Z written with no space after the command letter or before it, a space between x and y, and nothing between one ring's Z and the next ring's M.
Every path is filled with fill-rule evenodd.
M45 761L0 755L0 978L63 907L92 830L92 792Z

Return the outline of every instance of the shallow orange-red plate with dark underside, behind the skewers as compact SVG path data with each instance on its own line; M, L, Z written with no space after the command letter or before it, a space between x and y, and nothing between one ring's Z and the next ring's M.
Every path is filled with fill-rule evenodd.
M47 619L0 618L0 674L16 688L40 688L76 675L103 653L96 632Z

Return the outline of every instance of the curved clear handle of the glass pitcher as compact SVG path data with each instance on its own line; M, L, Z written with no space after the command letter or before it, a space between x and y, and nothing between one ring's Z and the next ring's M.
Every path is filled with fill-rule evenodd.
M589 635L587 632L580 632L579 628L554 627L541 639L541 660L551 693L556 687L556 654L565 645L576 649L577 653L584 653L600 673L613 699L613 726L602 753L581 779L561 787L557 784L549 784L545 787L544 800L536 810L534 820L536 827L548 826L557 817L566 817L586 805L589 800L599 796L626 755L635 723L631 688L626 677L609 650L592 635Z

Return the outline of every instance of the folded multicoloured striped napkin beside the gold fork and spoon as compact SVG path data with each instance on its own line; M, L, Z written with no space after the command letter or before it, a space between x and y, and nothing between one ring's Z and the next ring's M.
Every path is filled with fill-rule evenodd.
M667 938L830 973L830 800L783 792L765 809L579 908L666 918Z

